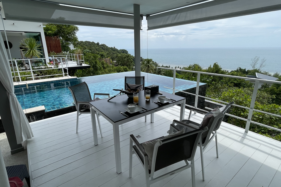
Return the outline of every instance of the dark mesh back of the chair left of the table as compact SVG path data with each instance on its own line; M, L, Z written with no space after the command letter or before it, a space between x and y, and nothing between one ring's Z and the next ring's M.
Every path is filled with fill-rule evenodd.
M89 102L92 100L88 85L85 82L76 84L74 86L69 86L68 89L70 89L72 93L76 109L77 109L77 101Z

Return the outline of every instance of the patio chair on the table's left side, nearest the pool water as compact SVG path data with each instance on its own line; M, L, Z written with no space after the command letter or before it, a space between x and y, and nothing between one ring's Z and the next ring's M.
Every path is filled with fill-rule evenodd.
M99 98L96 98L96 95L107 95L108 98L110 98L110 94L107 93L94 93L94 99L92 100L90 91L89 91L89 87L87 85L87 83L82 82L80 84L74 85L74 86L69 86L68 89L70 90L74 103L75 103L75 107L77 110L77 119L76 119L76 133L78 133L78 124L79 124L79 115L81 114L90 114L90 101L97 101L100 100ZM99 131L100 131L100 135L101 137L103 137L102 135L102 128L100 126L100 121L99 121L99 114L97 112L96 113L96 118L98 120L98 124L99 124Z

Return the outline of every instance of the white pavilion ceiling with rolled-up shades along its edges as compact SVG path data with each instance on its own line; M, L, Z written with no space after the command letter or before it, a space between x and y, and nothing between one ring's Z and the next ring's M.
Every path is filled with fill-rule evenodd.
M148 15L149 30L281 10L281 0L205 1L1 0L7 20L124 29L134 29L134 4L139 4L140 15ZM202 3L198 4L198 2ZM71 6L61 6L60 4ZM187 5L192 6L186 7ZM87 7L88 9L79 7ZM173 10L176 8L178 9ZM100 10L110 10L113 12ZM158 14L153 15L155 13ZM140 19L142 19L141 16Z

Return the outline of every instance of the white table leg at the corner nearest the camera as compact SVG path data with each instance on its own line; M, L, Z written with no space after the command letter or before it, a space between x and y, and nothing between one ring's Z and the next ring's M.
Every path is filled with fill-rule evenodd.
M122 168L121 168L119 125L113 125L113 139L114 139L116 172L120 174L122 172Z

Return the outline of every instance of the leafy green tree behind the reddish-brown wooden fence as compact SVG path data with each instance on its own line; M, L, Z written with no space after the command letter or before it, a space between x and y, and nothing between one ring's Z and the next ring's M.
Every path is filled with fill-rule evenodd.
M78 37L76 33L79 31L79 28L76 25L61 25L61 24L52 24L48 23L44 27L45 36L59 36L61 37L61 50L69 51L70 44L75 44L78 42Z

